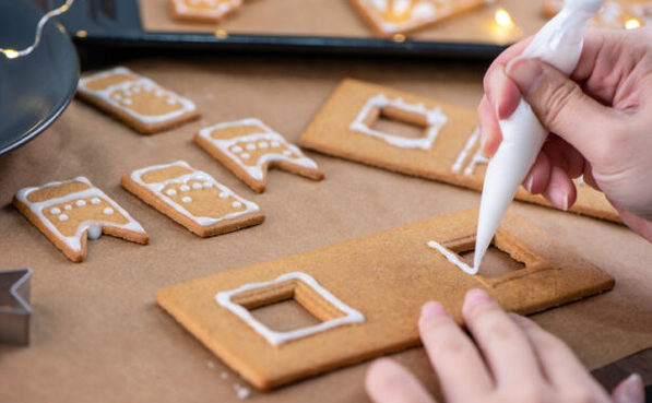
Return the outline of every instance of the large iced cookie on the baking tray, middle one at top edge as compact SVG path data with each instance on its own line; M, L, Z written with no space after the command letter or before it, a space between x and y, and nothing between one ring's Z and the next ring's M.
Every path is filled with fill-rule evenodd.
M351 0L380 37L408 34L493 0Z

